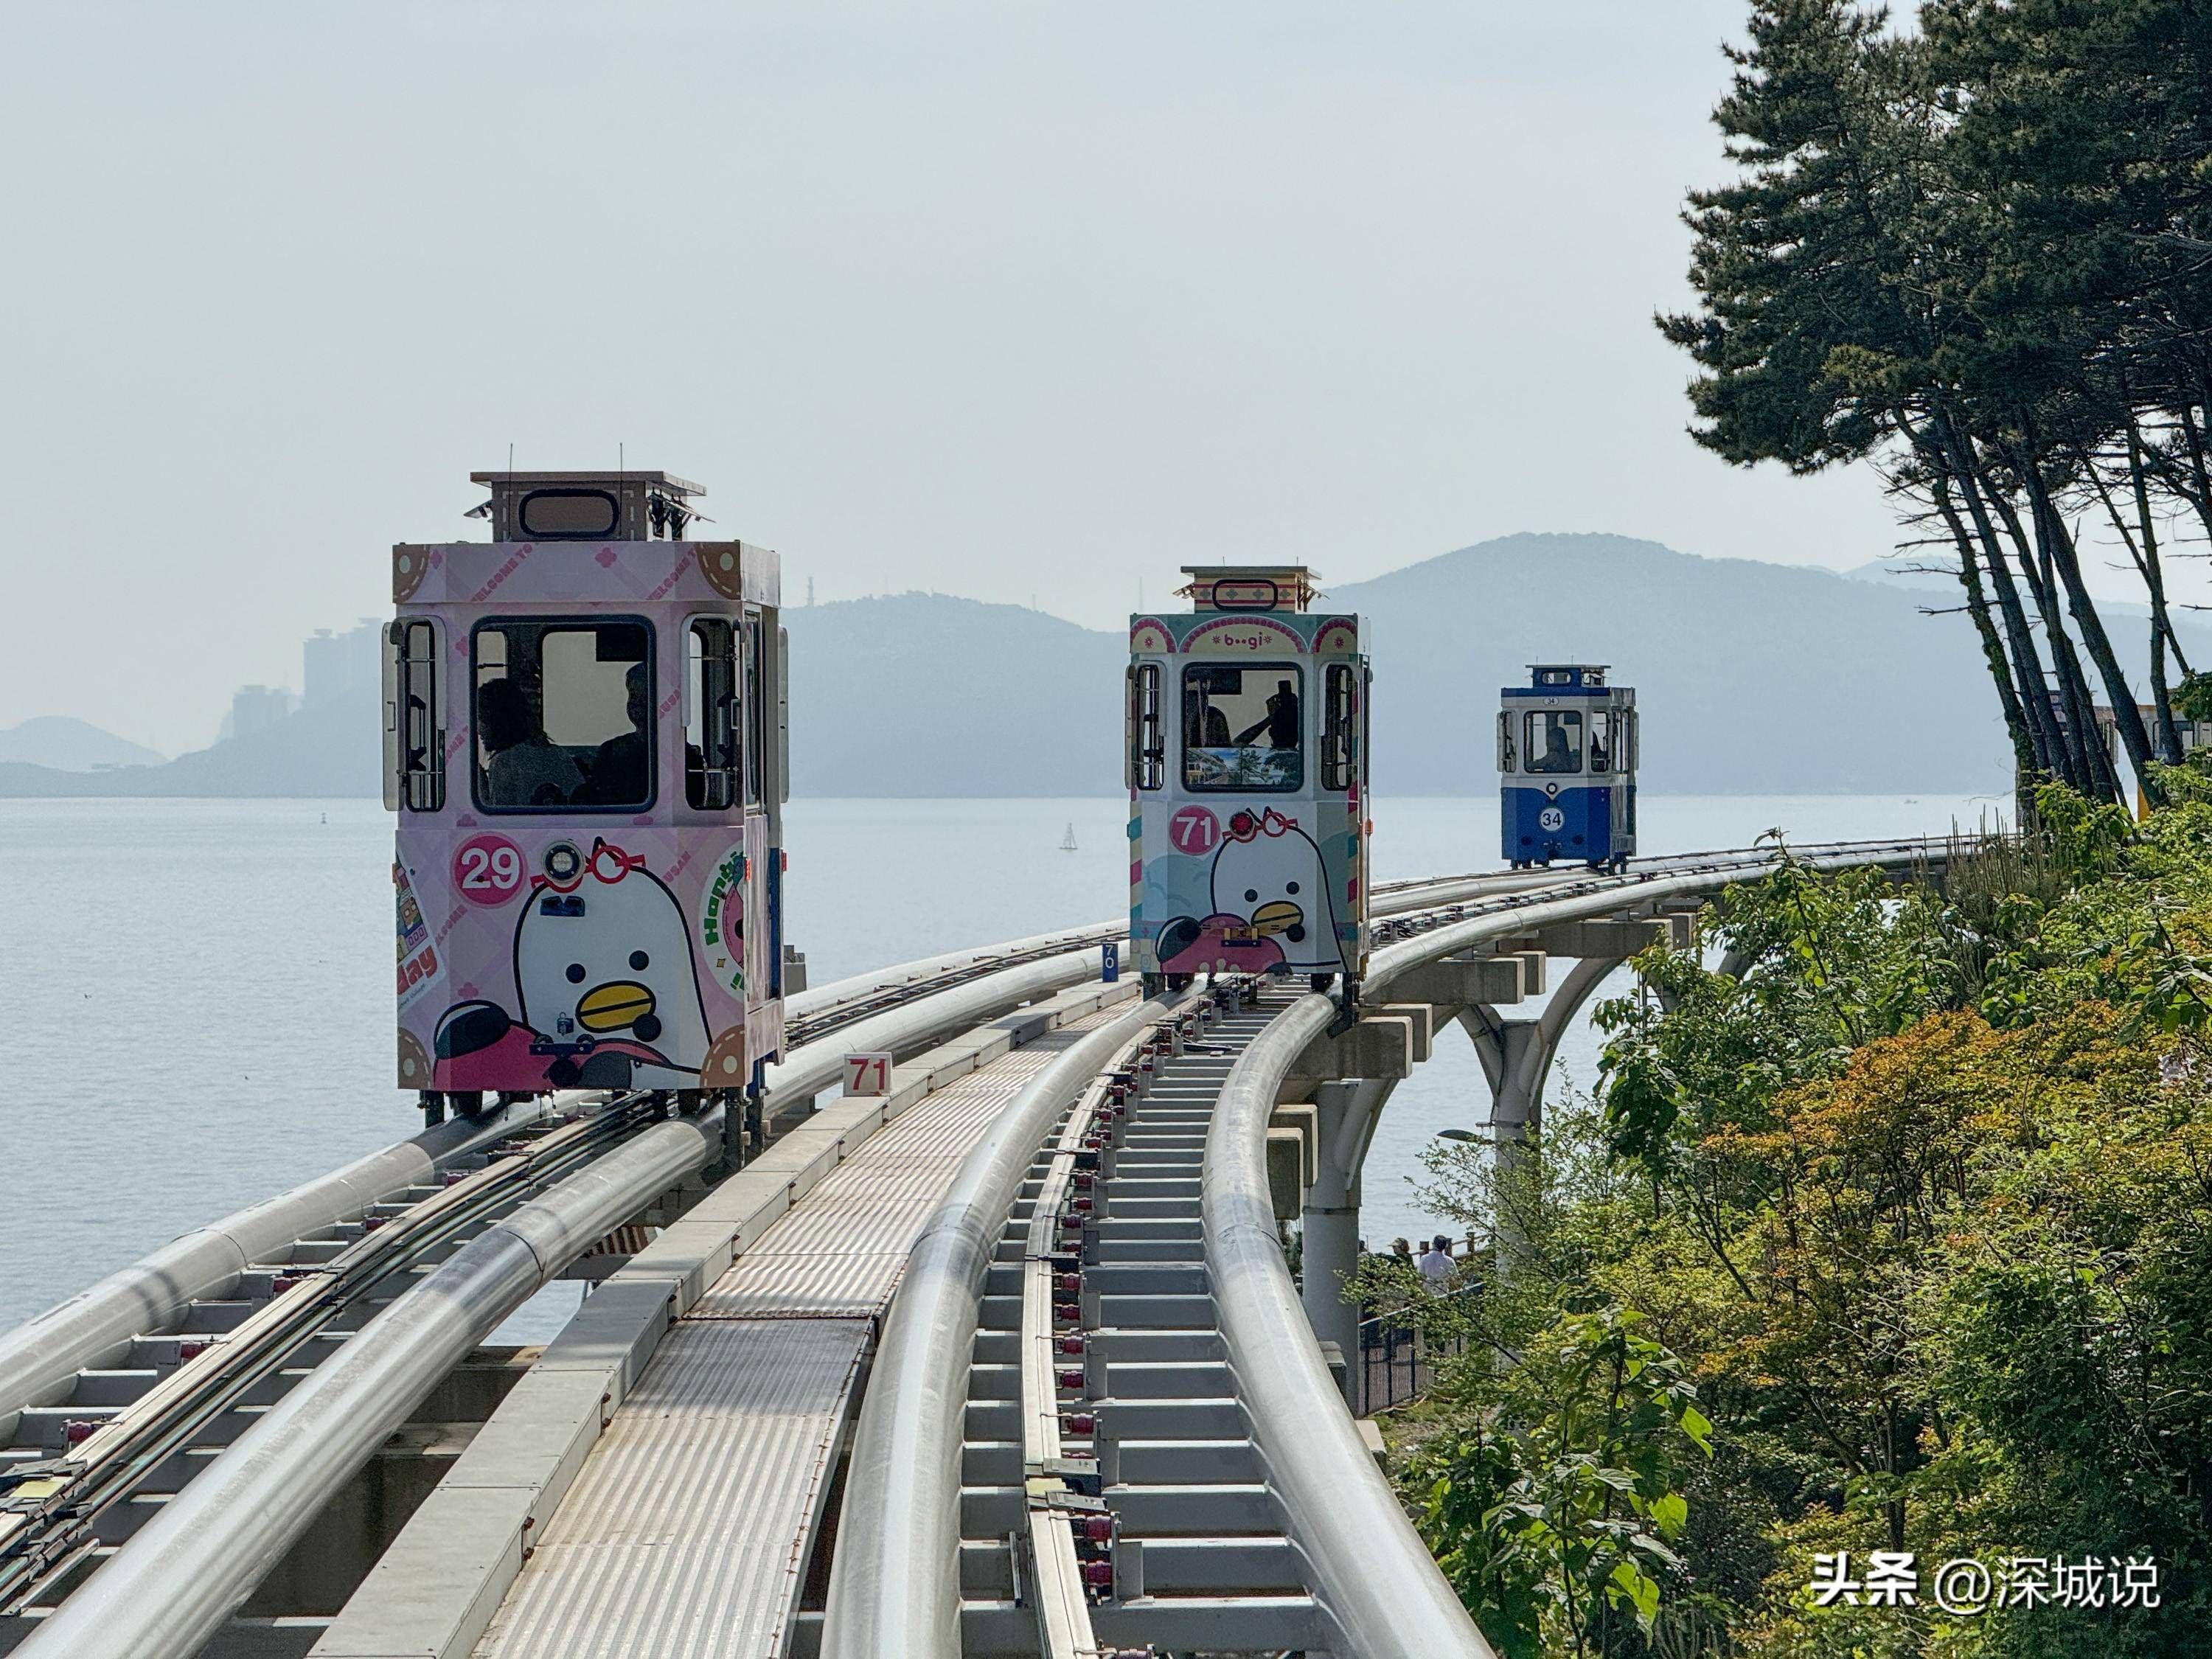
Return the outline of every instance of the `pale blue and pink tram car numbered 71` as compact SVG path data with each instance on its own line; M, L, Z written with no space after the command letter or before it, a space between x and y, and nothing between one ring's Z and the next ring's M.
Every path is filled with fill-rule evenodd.
M1130 951L1197 973L1367 969L1367 655L1303 566L1183 566L1188 615L1130 617Z

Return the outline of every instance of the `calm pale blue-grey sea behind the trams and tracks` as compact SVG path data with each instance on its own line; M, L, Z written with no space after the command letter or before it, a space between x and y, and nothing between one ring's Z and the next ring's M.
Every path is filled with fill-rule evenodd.
M1960 796L1650 796L1648 852L1940 832ZM1060 852L1075 825L1079 852ZM816 984L1104 920L1126 801L794 801L790 938ZM1493 801L1376 805L1376 878L1489 869ZM192 1225L418 1126L392 1088L392 821L372 801L0 801L0 1329ZM1586 1033L1562 1064L1588 1082ZM1451 1033L1385 1113L1367 1237L1484 1121Z

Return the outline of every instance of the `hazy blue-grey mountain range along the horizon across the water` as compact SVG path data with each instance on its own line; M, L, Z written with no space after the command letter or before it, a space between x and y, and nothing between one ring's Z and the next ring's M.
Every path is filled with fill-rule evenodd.
M1845 577L1619 535L1509 535L1334 586L1323 604L1369 619L1380 794L1495 787L1498 690L1531 661L1606 661L1637 688L1648 790L1966 794L2011 779L1971 624L1927 615L1949 604L1940 580L1880 564ZM794 606L783 619L794 794L1121 787L1121 633L933 593ZM2139 630L2119 633L2141 679ZM2181 633L2192 659L2212 661L2212 628ZM374 794L378 723L374 697L349 695L168 763L128 763L82 759L95 752L82 734L106 739L82 721L27 721L0 734L0 794ZM7 748L53 726L75 737ZM111 763L119 770L84 770Z

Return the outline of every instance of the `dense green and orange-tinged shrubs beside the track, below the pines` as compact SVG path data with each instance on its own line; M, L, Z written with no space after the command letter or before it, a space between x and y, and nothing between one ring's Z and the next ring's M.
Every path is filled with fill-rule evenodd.
M1597 1091L1533 1159L1429 1155L1480 1294L1387 1259L1349 1294L1464 1345L1385 1433L1502 1655L2201 1650L2212 772L2159 783L2141 823L2046 785L1902 889L1728 889L1597 1011ZM1867 1595L1876 1553L1913 1604ZM1856 1586L1827 1606L1823 1555ZM2046 1593L1944 1613L1960 1557ZM2062 1597L2084 1562L2097 1599Z

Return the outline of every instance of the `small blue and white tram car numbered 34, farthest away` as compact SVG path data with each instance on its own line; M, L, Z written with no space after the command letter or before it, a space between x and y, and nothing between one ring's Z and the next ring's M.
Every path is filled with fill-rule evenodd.
M1637 695L1606 664L1531 664L1498 712L1504 858L1619 869L1637 849Z

